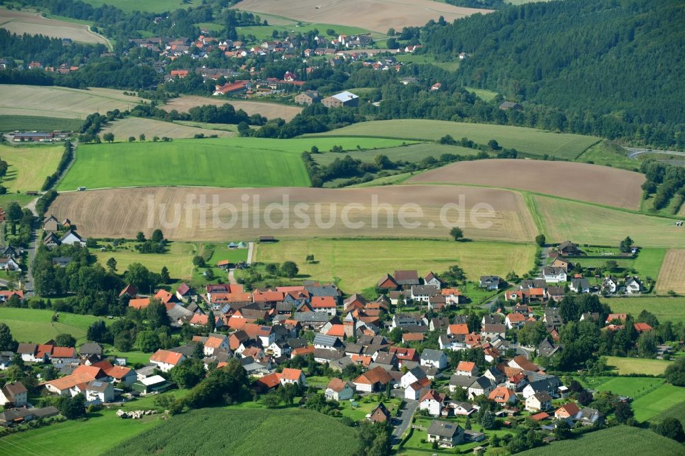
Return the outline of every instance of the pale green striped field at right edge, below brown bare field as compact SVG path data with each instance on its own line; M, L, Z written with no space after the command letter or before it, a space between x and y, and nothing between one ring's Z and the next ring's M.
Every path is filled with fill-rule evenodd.
M573 240L580 244L619 245L630 236L645 247L682 247L685 229L673 220L632 214L596 205L533 195L531 208L543 225L547 242Z

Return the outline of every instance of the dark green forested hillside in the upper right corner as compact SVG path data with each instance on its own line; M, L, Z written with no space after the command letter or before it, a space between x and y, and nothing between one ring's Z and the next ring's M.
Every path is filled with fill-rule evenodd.
M576 122L608 114L605 136L682 146L684 23L679 0L528 3L436 23L423 51L470 54L464 84L559 107Z

